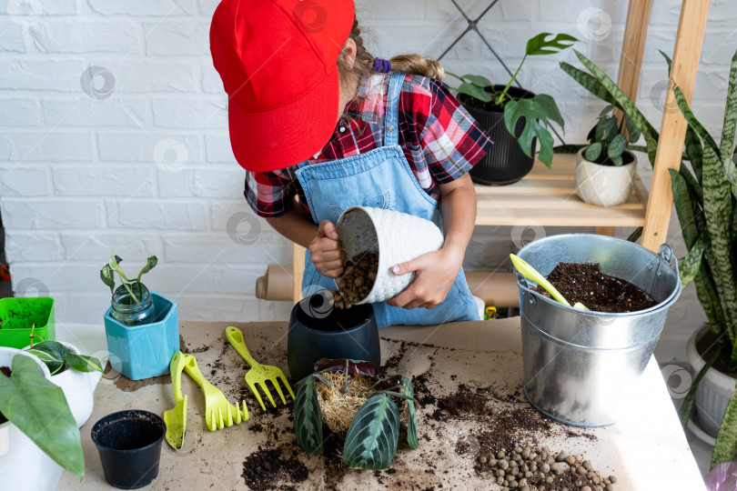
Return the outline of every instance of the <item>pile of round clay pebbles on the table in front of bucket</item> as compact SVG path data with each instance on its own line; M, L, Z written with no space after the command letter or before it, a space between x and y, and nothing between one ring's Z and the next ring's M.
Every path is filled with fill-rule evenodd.
M484 479L522 491L612 491L617 482L616 476L601 476L581 456L565 450L553 456L547 446L515 446L509 455L503 450L481 453L474 468Z

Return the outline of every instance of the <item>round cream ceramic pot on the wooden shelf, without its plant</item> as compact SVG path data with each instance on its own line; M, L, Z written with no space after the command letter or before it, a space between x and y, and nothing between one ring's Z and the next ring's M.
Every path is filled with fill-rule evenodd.
M576 155L576 194L591 205L616 206L626 202L632 194L637 157L630 164L599 165L586 160L581 148Z

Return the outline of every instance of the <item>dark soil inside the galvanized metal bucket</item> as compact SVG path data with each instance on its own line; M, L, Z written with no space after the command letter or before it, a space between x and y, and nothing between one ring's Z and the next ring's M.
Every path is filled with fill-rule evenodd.
M655 306L655 302L637 286L601 273L596 263L559 263L548 276L570 305L581 302L596 312L636 312ZM541 286L541 295L550 294Z

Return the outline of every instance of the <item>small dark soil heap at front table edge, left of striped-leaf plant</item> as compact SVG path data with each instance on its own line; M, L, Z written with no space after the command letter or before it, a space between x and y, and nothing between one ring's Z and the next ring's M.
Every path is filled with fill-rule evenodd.
M246 485L251 489L295 489L295 485L306 481L308 469L297 458L286 458L282 449L268 450L258 447L258 451L243 461L243 474Z

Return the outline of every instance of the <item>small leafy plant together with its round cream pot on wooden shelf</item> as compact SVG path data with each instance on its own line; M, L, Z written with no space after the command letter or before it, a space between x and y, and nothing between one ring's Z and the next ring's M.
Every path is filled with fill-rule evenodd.
M608 105L601 111L589 134L589 145L576 158L576 195L591 205L621 205L632 195L637 157L626 148L640 138L640 130L629 116L618 123L613 109Z

